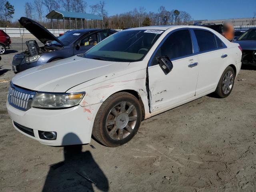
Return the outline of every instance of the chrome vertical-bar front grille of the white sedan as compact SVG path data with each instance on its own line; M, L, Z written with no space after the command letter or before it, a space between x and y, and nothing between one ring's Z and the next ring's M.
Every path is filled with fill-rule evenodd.
M36 92L25 90L11 84L8 93L8 102L13 107L26 111L31 108L31 102L35 94Z

